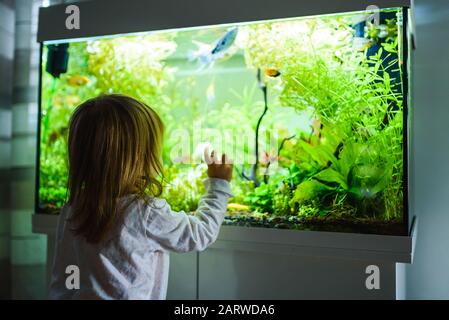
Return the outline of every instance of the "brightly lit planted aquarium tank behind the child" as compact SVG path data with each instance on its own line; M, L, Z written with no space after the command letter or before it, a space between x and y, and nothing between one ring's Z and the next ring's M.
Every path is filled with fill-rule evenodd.
M164 194L195 214L204 148L234 161L225 225L407 233L406 9L160 30L41 50L39 213L67 199L67 127L102 93L166 132Z

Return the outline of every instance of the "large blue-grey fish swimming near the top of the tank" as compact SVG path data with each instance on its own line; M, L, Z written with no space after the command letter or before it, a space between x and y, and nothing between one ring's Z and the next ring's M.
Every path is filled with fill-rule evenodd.
M237 37L237 32L237 27L228 30L212 47L199 41L193 41L198 46L198 49L189 54L189 60L198 60L200 70L205 67L211 67L215 61L226 57L228 49Z

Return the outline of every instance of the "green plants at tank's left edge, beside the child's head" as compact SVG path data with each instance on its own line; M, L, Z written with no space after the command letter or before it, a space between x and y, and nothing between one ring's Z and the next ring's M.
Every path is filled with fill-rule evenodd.
M67 196L67 130L75 107L99 93L95 78L86 75L88 54L85 43L69 47L68 70L54 79L42 72L42 124L40 134L39 201L45 210L58 210ZM47 50L42 68L45 69Z

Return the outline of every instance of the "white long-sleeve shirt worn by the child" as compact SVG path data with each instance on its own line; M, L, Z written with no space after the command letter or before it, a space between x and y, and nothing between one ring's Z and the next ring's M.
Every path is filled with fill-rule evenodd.
M149 205L134 201L123 223L103 244L90 244L70 230L70 207L58 223L56 254L50 284L51 299L165 299L169 252L202 251L218 236L232 196L222 179L205 181L206 194L195 216L173 212L162 199ZM79 289L68 289L66 280L79 270ZM67 271L67 273L66 273ZM69 283L73 282L73 277Z

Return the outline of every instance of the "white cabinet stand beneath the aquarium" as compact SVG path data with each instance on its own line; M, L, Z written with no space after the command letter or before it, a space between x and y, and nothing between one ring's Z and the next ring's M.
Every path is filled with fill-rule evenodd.
M33 216L33 232L48 236L48 272L57 218ZM404 299L417 231L416 219L409 236L223 226L206 251L171 255L167 298ZM379 289L366 287L370 265Z

